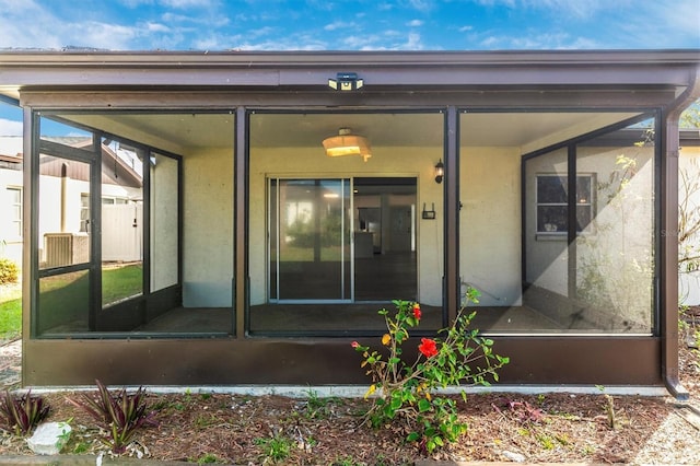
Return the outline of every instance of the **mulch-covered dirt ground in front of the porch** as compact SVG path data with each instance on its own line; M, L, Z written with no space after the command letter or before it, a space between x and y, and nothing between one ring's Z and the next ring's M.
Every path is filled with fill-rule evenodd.
M696 310L698 311L698 310ZM699 313L700 315L700 313ZM459 399L468 432L425 455L402 441L400 426L362 426L363 399L225 394L149 395L158 426L143 429L127 455L164 461L240 465L398 465L421 459L527 463L700 464L700 356L681 345L681 381L690 404L670 397L614 396L616 426L604 394L474 394ZM50 420L70 420L63 450L105 451L103 434L67 401L79 394L46 395ZM31 454L26 443L0 434L0 455ZM1 459L0 459L1 463Z

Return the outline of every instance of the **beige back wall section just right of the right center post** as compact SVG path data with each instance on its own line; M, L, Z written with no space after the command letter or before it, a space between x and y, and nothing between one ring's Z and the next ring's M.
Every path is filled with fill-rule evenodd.
M522 303L520 173L520 148L460 149L459 273L479 306Z

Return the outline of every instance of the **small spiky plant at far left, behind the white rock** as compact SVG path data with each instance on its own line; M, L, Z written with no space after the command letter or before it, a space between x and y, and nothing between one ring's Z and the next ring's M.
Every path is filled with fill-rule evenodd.
M0 397L0 421L2 429L16 435L26 435L49 412L49 406L40 395L16 394L5 391Z

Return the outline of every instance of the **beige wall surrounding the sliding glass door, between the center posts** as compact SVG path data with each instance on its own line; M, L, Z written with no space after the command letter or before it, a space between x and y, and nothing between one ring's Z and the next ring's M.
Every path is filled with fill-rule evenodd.
M435 205L435 220L418 220L419 301L442 305L443 218L442 185L434 180L434 165L443 158L442 147L382 147L363 162L359 156L328 158L320 147L250 149L250 231L248 235L250 304L266 301L267 234L266 179L279 177L415 176L418 178L417 209ZM259 258L259 259L258 259Z

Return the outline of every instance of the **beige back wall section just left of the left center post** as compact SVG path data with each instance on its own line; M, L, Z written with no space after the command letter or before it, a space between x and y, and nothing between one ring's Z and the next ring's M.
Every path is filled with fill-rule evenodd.
M183 159L183 305L233 305L233 150Z

